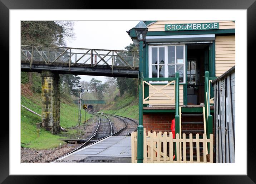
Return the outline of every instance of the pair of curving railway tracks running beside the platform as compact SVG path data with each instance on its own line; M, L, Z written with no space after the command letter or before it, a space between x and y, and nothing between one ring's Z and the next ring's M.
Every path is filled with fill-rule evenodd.
M65 154L62 157L65 157L81 148L84 148L88 145L94 144L102 139L105 139L109 136L129 136L131 132L137 131L137 125L138 123L134 121L133 119L123 117L123 116L116 116L113 114L99 114L99 113L93 113L93 115L98 116L99 121L98 121L98 126L93 133L92 137L88 138L88 140L80 145L80 147L72 150L71 152ZM119 118L121 121L125 123L125 127L119 129L118 131L113 133L113 126L112 122L108 118L108 116L113 116ZM61 157L61 158L62 158Z

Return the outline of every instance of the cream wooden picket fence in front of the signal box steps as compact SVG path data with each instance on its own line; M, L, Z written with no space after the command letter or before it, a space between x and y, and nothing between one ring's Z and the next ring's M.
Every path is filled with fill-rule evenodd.
M131 134L132 145L132 163L137 163L137 132ZM156 133L148 132L144 129L144 144L143 144L143 163L213 163L213 134L210 134L210 139L206 138L206 134L203 134L203 138L199 138L199 134L196 134L196 138L193 139L192 134L189 134L189 138L186 138L186 134L182 134L182 138L179 138L179 134L176 134L176 138L173 139L172 132L167 135L167 132ZM174 144L176 143L176 144ZM182 143L182 144L180 144ZM186 143L189 144L189 149L186 148ZM193 143L196 144L196 153L193 152ZM200 143L203 144L203 155L200 156ZM210 143L210 153L208 154L207 143ZM174 159L174 147L176 145ZM182 147L183 153L180 152ZM189 161L187 161L187 150L189 152ZM159 154L158 154L159 153ZM196 156L194 161L193 156ZM183 158L183 159L181 159Z

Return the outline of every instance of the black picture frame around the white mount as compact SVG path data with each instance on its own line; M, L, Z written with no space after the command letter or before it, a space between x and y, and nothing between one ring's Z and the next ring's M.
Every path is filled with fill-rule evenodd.
M100 4L95 4L93 1L83 1L83 0L0 0L0 25L1 25L1 52L5 53L5 60L9 61L9 10L10 9L105 9L109 7L113 9L113 4L120 4L121 1L116 3L109 1L101 1ZM122 1L122 3L127 3L127 9L247 9L247 60L253 61L255 63L255 51L253 50L254 42L256 41L256 2L255 0L179 0L179 1L166 1L158 0L155 3L152 0L148 1ZM122 6L123 8L124 6ZM116 7L117 9L119 7ZM244 61L242 61L244 62ZM247 65L248 66L248 65ZM6 67L9 68L7 65ZM253 67L249 67L248 69ZM11 70L11 68L9 68ZM249 70L248 70L248 73ZM249 84L249 83L247 83ZM245 89L247 92L247 89ZM253 94L254 90L247 93L248 96L255 96ZM7 94L5 94L7 95ZM10 98L10 96L9 96ZM7 108L7 106L6 106ZM9 109L9 108L8 108ZM249 110L250 107L247 106ZM10 112L9 112L10 113ZM245 117L245 122L247 123L247 114L242 114ZM13 122L9 122L13 123ZM18 123L18 122L17 122ZM255 129L254 122L251 121L247 124L247 175L212 175L212 176L182 176L182 183L184 181L189 181L190 183L255 183L256 182L256 145L254 141ZM0 182L3 183L45 183L51 181L49 177L46 176L14 176L9 175L9 125L6 121L1 124L2 131L0 136ZM5 133L4 133L5 132ZM246 156L246 155L245 155ZM170 168L172 169L172 168ZM157 176L159 177L159 176ZM175 181L175 179L180 179L180 176L173 178L170 176L170 180ZM61 177L66 179L66 177ZM60 179L61 179L60 178ZM59 180L60 181L60 180Z

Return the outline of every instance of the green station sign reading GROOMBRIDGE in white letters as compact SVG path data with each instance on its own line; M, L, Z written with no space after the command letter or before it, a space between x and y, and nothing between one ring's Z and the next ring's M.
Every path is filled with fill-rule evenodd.
M211 22L211 23L164 25L164 31L191 31L191 30L212 30L212 29L219 29L219 23Z

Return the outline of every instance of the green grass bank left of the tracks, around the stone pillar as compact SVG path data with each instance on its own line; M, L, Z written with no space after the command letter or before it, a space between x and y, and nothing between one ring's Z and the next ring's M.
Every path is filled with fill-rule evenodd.
M32 111L41 114L41 95L33 93L32 96L21 95L21 104ZM86 116L88 120L92 115ZM82 121L84 121L84 113L82 113ZM21 107L21 146L33 149L49 149L65 144L59 140L62 133L53 135L43 128L40 128L40 133L36 131L36 123L41 122L41 117L27 111ZM78 109L77 105L61 99L60 103L60 126L70 128L78 124Z

